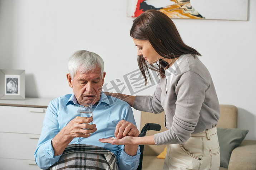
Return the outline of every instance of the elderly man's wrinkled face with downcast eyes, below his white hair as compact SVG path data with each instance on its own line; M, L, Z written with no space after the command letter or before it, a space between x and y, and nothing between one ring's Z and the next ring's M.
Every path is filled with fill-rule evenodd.
M94 105L99 101L105 75L106 73L104 72L103 77L101 76L98 66L91 73L82 73L81 70L78 70L73 79L71 79L70 74L67 74L69 86L72 87L77 102L80 105Z

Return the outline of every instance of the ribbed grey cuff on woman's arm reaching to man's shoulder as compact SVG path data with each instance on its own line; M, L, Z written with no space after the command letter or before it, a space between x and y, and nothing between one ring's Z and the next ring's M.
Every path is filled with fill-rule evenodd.
M135 96L133 107L136 110L153 113L150 106L151 97L152 96Z

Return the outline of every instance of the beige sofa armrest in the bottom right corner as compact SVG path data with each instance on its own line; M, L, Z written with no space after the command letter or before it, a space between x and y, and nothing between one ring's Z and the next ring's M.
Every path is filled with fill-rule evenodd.
M256 170L256 140L243 140L230 157L228 170Z

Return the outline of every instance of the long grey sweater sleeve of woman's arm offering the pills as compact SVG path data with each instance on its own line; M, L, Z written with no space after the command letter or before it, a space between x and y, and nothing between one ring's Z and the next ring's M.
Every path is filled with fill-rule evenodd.
M154 135L156 145L185 143L194 132L208 84L198 74L183 73L176 86L176 110L171 129ZM168 121L168 120L166 120Z

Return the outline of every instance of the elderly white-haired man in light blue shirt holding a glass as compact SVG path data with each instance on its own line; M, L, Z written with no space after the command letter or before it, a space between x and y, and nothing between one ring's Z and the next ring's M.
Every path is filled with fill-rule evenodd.
M99 142L100 138L111 138L114 134L118 138L139 135L128 103L102 92L106 74L102 58L92 52L77 51L68 60L68 71L68 84L73 89L73 94L50 102L35 151L36 164L41 169L58 169L62 166L66 169L87 169L90 166L102 168L105 165L100 165L103 160L99 161L97 155L102 151L106 159L111 158L111 154L114 158L107 159L112 168L102 169L115 169L110 165L113 162L121 170L137 169L140 154L138 145L119 146ZM92 119L80 117L77 112L79 105L85 103L93 105L95 124L88 124ZM69 158L67 154L70 152L74 152L76 156ZM91 152L97 155L95 162L93 158L88 158L93 156L90 155ZM60 165L61 163L65 165Z

